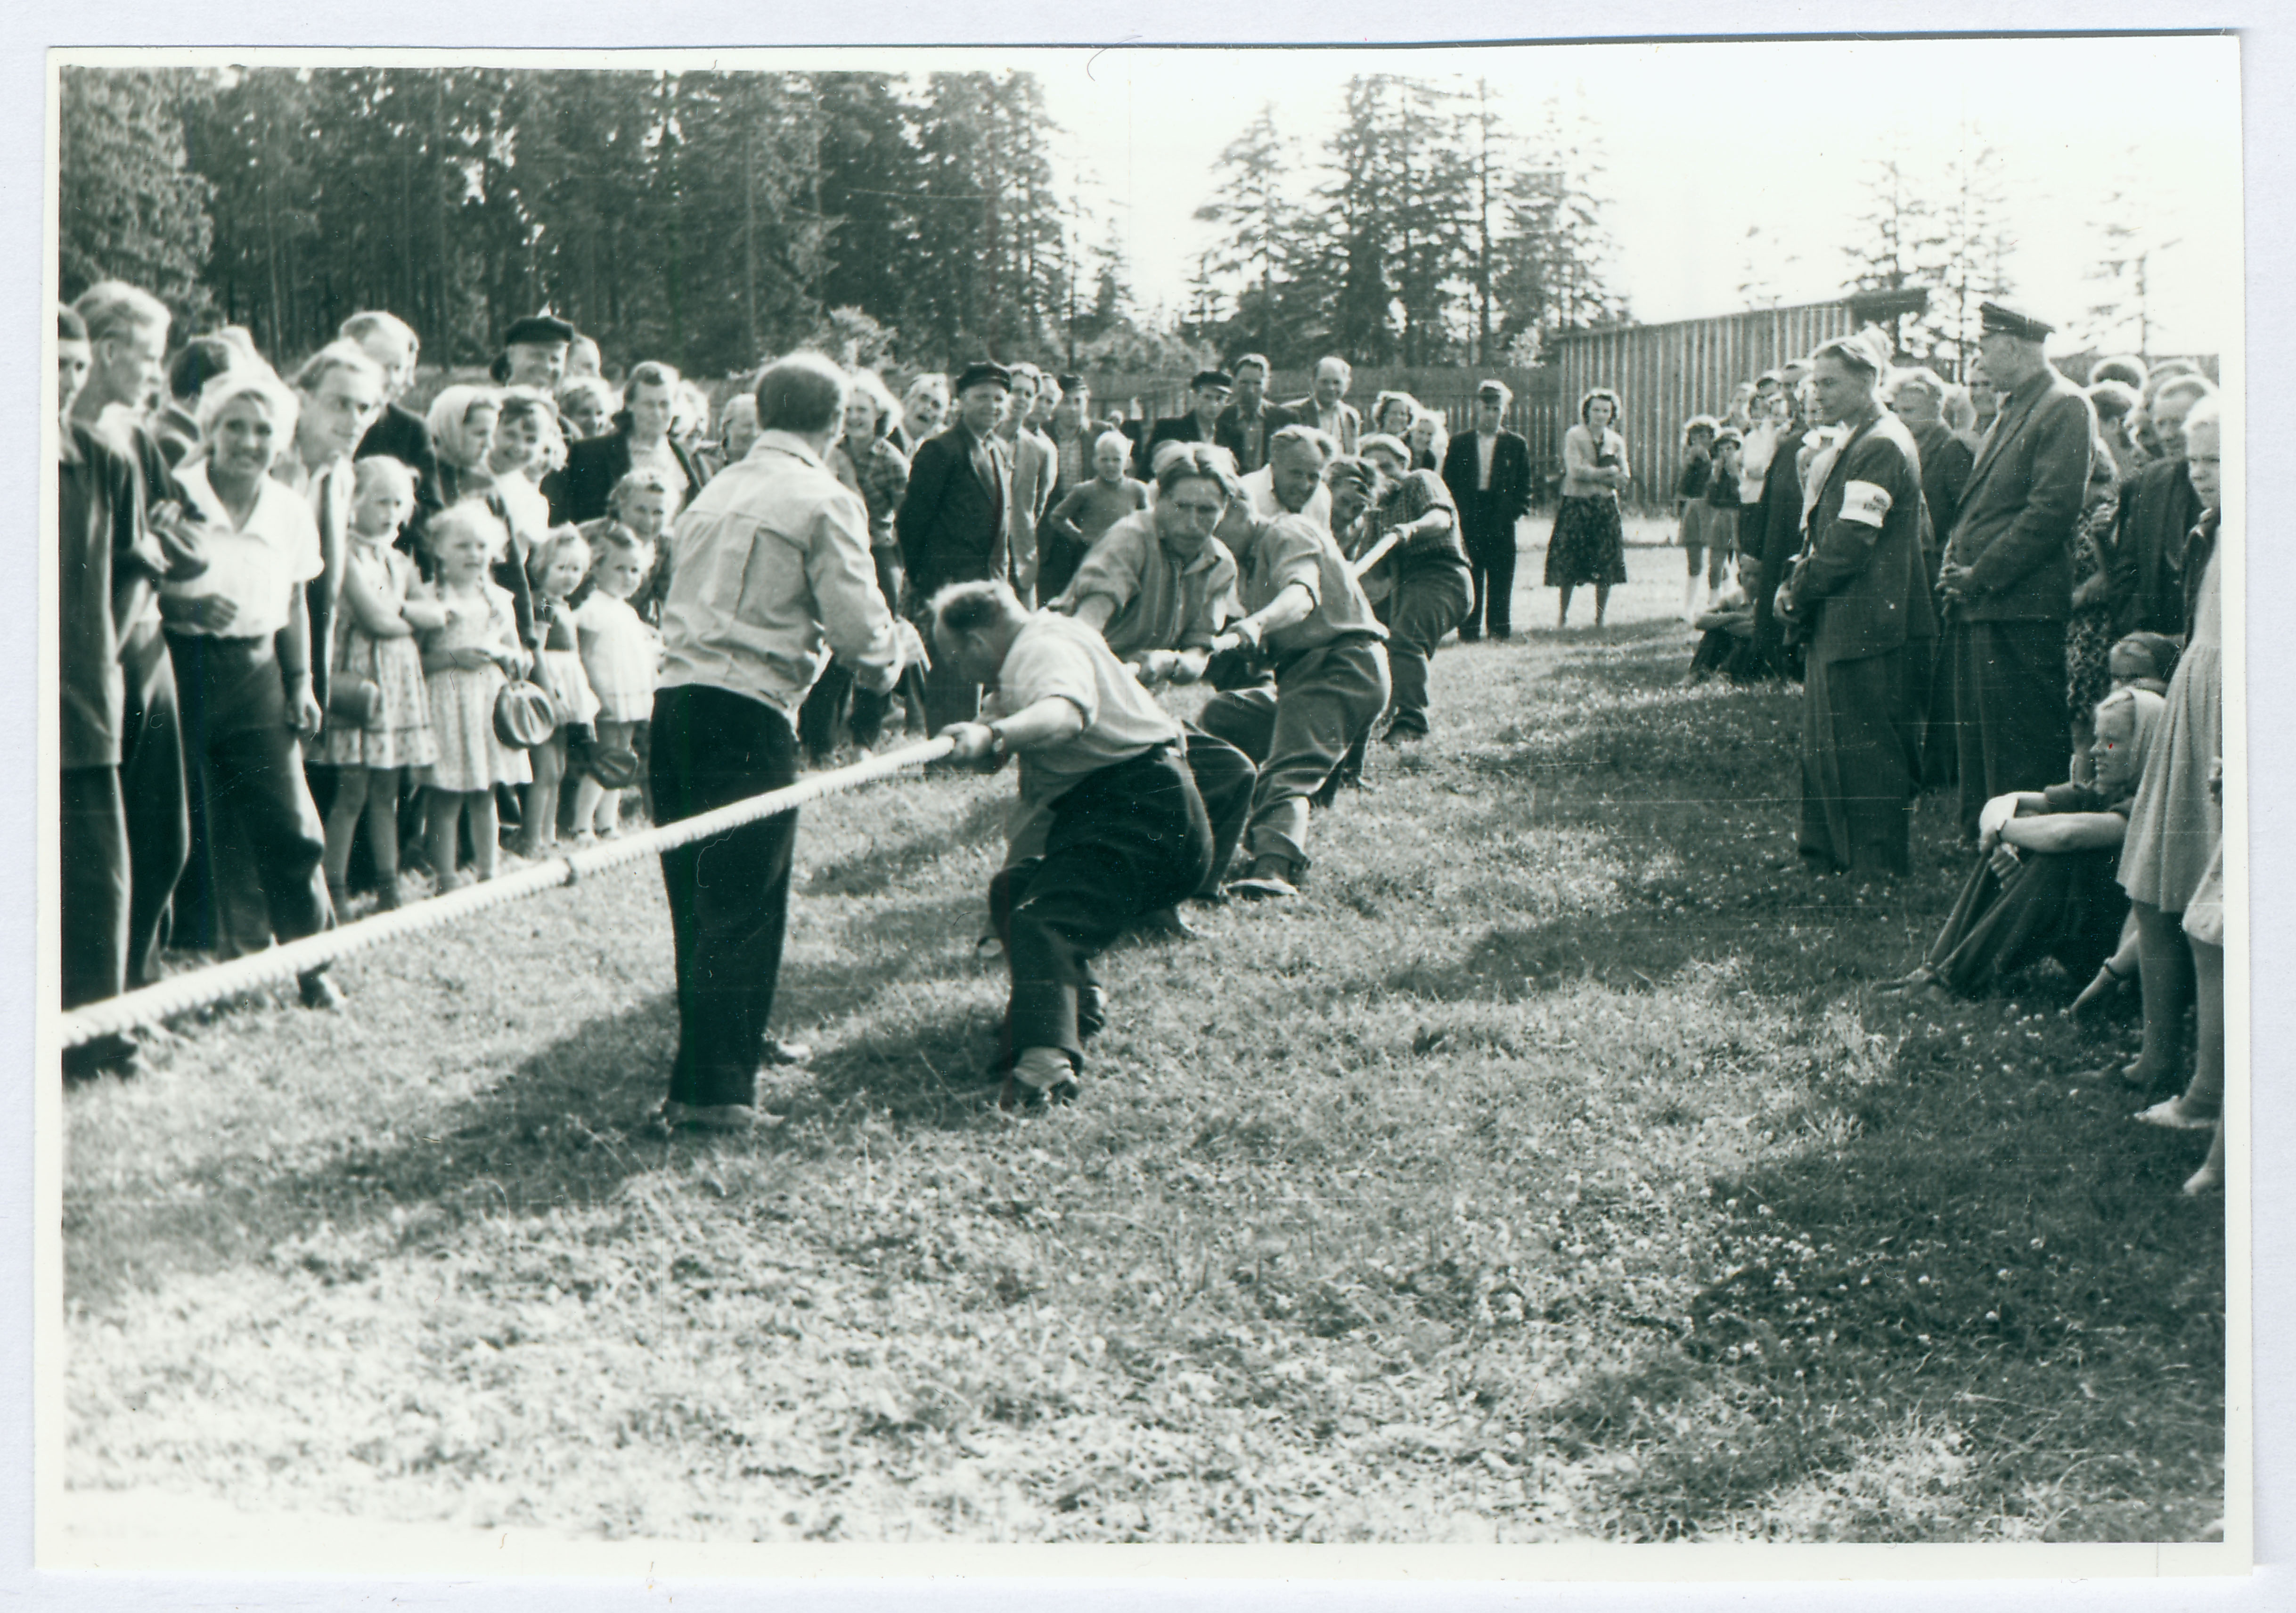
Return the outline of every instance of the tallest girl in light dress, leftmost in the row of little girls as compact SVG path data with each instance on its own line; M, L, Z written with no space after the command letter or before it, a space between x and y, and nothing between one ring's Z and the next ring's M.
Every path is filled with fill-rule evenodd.
M335 767L335 804L326 811L326 894L349 910L347 873L358 820L374 852L374 908L400 905L400 770L429 767L439 756L422 687L418 630L445 627L445 609L420 597L416 563L393 542L416 512L416 480L397 460L360 460L351 483L351 533L342 556L342 630L335 634L335 685L370 682L379 710L365 726L328 715L315 763Z

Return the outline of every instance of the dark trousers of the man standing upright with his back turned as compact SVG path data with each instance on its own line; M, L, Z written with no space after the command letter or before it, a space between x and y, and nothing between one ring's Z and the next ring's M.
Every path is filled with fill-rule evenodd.
M657 823L696 818L797 781L797 733L765 701L707 685L654 694ZM677 954L670 1103L758 1101L765 1027L790 921L797 813L661 852Z

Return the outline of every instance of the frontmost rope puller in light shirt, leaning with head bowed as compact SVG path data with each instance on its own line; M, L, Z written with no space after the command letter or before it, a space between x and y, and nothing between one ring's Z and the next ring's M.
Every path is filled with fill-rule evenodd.
M1013 967L1003 1105L1075 1098L1084 1041L1107 1020L1093 958L1212 866L1180 724L1097 632L1024 609L1001 581L937 593L932 646L964 678L996 687L990 721L944 728L953 754L1019 756L1019 804L1047 818L1042 852L990 882L990 919Z

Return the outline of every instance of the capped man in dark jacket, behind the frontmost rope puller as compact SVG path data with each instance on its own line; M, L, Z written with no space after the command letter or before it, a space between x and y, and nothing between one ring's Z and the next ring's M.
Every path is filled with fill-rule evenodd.
M909 462L909 492L893 526L909 565L909 600L916 611L953 581L1017 581L1006 545L1013 460L996 434L996 416L1010 391L1013 372L1001 363L967 365L957 377L955 423L921 441ZM930 630L930 616L921 620ZM925 671L925 728L939 733L978 715L980 685L969 682L948 657L934 657Z

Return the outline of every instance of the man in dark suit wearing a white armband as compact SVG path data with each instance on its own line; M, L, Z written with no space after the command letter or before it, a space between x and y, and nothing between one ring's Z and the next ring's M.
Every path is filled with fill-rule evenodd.
M1821 871L1906 873L1922 781L1938 618L1922 563L1919 450L1874 395L1885 363L1871 331L1816 352L1816 414L1851 434L1809 466L1825 483L1777 597L1809 634L1795 839Z

